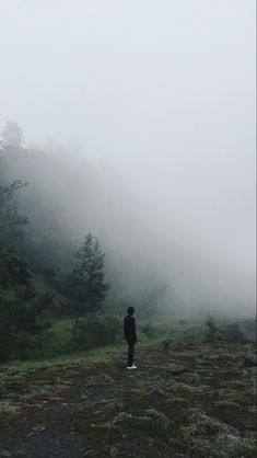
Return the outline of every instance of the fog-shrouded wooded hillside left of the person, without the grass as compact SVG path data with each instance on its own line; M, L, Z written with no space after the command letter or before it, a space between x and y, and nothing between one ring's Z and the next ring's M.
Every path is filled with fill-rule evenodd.
M114 342L120 322L112 313L131 301L152 313L165 291L152 278L139 291L108 247L104 222L108 213L115 218L110 207L121 190L110 186L107 195L109 171L103 178L75 150L70 159L50 142L25 147L14 122L0 146L0 360L37 354L52 320L72 319L72 348Z

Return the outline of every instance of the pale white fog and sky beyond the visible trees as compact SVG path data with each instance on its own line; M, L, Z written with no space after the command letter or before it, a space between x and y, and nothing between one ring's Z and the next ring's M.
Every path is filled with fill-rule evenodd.
M0 0L0 55L1 130L47 149L46 201L128 299L254 312L255 1Z

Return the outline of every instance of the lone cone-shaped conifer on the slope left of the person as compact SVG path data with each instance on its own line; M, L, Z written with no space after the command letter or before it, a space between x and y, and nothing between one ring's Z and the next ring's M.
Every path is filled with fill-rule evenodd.
M78 264L69 277L68 288L74 316L83 317L102 308L109 285L105 283L105 253L97 238L89 233L75 257Z

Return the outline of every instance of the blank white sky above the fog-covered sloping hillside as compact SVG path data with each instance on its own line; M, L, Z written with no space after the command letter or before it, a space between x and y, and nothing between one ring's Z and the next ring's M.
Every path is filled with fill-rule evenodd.
M167 247L253 291L255 16L255 0L0 0L0 128L113 163Z

